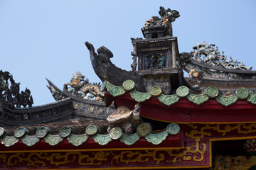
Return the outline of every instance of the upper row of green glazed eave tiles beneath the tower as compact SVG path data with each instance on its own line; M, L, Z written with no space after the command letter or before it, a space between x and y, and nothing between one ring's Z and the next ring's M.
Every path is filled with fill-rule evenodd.
M132 81L133 82L133 81ZM154 87L155 89L159 90L160 87ZM107 82L107 91L112 94L112 96L120 96L127 92L122 86L114 86ZM129 92L131 97L137 102L143 102L151 98L151 94L139 92L133 89ZM153 96L156 97L161 93L156 93ZM186 97L189 101L196 103L197 105L201 105L202 103L208 101L209 98L215 98L218 103L222 104L223 106L230 106L231 104L238 101L238 99L244 100L247 98L247 101L256 104L256 97L250 96L248 94L248 90L245 88L240 88L236 91L234 96L222 96L219 94L218 88L214 86L210 86L206 89L206 94L190 94L188 87L180 86L176 90L176 94L173 95L164 95L161 94L157 96L161 103L164 103L166 106L170 106L176 102L178 102L179 98Z

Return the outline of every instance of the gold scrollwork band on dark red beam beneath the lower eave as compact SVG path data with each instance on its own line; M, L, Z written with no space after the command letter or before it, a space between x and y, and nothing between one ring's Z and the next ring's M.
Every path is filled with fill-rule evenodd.
M104 150L87 152L14 152L0 154L0 162L8 166L27 164L33 167L47 167L49 165L59 166L64 164L102 165L108 164L118 166L119 163L144 163L151 159L154 164L177 164L181 161L201 162L206 153L206 144L196 141L195 145L185 149L162 148L162 149L132 149L127 150ZM193 156L191 156L193 154ZM156 167L157 168L157 167Z

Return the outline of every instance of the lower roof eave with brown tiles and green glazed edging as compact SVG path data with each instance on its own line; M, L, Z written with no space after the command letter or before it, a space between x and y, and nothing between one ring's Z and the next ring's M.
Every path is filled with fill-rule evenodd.
M122 133L118 137L114 135L115 133L107 133L107 127L108 123L106 120L82 119L38 125L24 125L21 127L4 127L0 128L0 141L6 147L11 147L17 142L31 147L38 142L42 143L42 140L52 146L58 145L58 143L66 139L74 146L82 145L87 140L90 140L90 145L92 145L92 143L94 143L94 145L96 143L98 143L98 145L107 145L107 143L112 140L117 142L117 139L125 145L134 145L137 141L159 145L164 140L173 140L176 141L176 143L173 143L175 147L181 147L180 128L175 123L169 124L163 130L154 131L145 131L145 128L149 128L145 126L141 127L144 129L142 131L137 128L137 132L132 135ZM147 142L144 139L146 139ZM162 145L166 145L166 142ZM95 145L95 147L97 147L97 145Z

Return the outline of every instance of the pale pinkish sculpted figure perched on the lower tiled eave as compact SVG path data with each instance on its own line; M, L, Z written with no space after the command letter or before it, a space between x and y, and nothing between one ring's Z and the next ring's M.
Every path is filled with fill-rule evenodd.
M140 103L134 106L134 110L130 110L126 106L119 106L117 110L107 117L107 122L110 123L108 132L114 127L120 127L128 135L132 134L132 125L139 125L142 122L140 118Z

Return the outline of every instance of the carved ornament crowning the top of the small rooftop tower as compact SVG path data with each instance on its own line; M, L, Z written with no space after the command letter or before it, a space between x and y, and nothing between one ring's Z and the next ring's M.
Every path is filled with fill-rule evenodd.
M163 6L160 6L159 15L161 18L152 16L151 19L146 21L142 28L142 33L146 39L173 35L171 23L180 16L179 12L171 10L170 8L165 9Z

